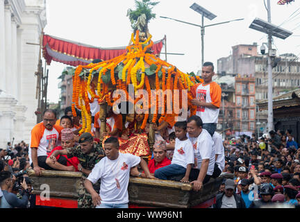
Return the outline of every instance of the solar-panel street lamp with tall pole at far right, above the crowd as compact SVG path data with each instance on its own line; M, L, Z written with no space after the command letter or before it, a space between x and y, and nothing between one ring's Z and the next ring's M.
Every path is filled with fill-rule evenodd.
M274 51L272 50L272 36L281 38L285 40L287 37L292 35L292 32L280 28L271 24L271 3L270 0L267 0L267 16L268 22L265 22L263 19L256 18L253 20L249 28L253 28L256 31L266 33L268 35L268 130L274 130L274 120L273 120L273 76L272 76L272 60L271 57L274 57Z

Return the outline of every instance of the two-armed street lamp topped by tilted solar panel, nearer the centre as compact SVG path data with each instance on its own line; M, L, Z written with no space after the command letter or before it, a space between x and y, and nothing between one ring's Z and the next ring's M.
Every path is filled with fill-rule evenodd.
M192 10L194 10L195 12L198 12L199 14L202 15L202 25L199 25L199 24L192 24L190 22L183 22L181 20L178 20L178 19L172 19L172 18L169 18L169 17L164 17L164 16L160 16L161 18L163 19L172 19L176 22L182 22L182 23L185 23L185 24L189 24L189 25L192 25L192 26L197 26L197 27L200 27L201 28L201 55L202 55L202 64L204 63L204 35L205 35L205 28L206 27L210 27L210 26L216 26L216 25L219 25L219 24L225 24L225 23L229 23L229 22L234 22L234 21L240 21L240 20L243 20L243 19L233 19L233 20L230 20L230 21L226 21L226 22L219 22L219 23L216 23L216 24L210 24L210 25L207 25L207 26L204 26L204 17L210 19L210 20L213 20L215 19L215 17L217 17L217 15L214 15L212 12L206 10L205 8L199 6L197 3L193 3L192 6L190 6L190 8L192 8Z

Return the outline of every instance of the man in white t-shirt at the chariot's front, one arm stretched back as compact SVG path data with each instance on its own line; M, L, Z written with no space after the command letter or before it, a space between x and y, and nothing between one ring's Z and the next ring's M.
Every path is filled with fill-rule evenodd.
M141 157L119 153L119 142L116 137L109 137L104 142L106 157L100 160L88 178L85 180L85 189L92 195L92 202L96 208L128 208L128 183L132 167L140 164L147 178L151 176ZM92 184L101 179L100 194Z

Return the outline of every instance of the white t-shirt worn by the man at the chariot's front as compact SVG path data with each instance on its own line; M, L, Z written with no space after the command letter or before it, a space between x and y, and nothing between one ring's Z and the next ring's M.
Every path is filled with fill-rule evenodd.
M127 189L130 171L132 167L140 164L140 160L138 156L119 153L117 160L109 160L108 157L104 157L94 166L88 180L94 184L101 179L101 203L124 204L129 202Z

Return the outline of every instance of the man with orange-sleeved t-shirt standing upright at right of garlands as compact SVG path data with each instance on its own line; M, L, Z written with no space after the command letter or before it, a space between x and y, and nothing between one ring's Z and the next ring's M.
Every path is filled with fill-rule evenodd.
M221 87L213 82L214 65L213 62L205 62L202 67L203 83L194 85L191 88L193 105L197 105L197 116L203 121L203 129L213 137L217 128L219 108L221 105Z

